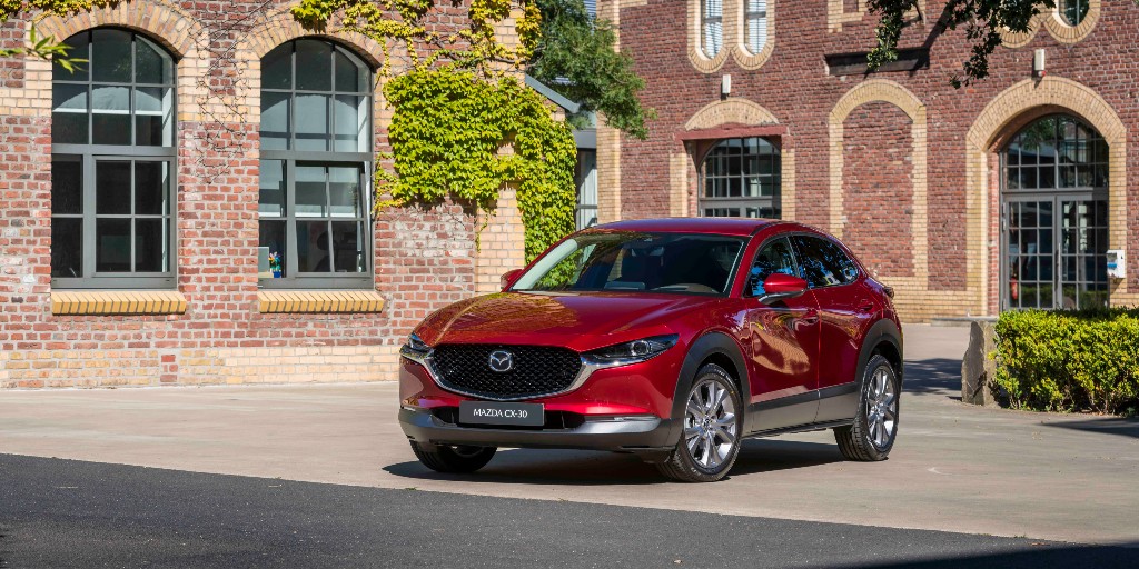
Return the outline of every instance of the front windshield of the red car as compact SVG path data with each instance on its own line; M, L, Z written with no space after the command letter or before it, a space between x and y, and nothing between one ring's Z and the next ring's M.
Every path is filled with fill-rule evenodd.
M743 248L740 237L587 232L550 250L513 290L722 295Z

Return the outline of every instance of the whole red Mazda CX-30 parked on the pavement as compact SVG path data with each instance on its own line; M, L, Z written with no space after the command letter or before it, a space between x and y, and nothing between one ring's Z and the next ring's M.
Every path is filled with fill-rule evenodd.
M424 320L400 352L400 423L441 472L500 446L591 448L712 481L744 438L825 428L847 459L884 460L902 381L892 296L798 223L599 225Z

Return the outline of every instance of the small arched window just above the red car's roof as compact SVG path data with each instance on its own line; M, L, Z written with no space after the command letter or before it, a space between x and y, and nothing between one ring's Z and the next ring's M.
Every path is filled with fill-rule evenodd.
M721 140L700 167L700 214L779 217L779 149L767 139Z

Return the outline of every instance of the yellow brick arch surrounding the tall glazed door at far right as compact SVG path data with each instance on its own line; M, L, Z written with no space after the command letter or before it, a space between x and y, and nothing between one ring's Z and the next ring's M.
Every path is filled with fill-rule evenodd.
M1088 121L1107 142L1109 247L1112 249L1125 248L1128 238L1128 127L1120 119L1115 109L1099 93L1070 79L1052 75L1041 80L1027 79L1009 86L989 101L965 137L966 159L967 164L970 165L970 173L966 176L966 195L981 196L982 203L989 204L990 192L999 190L993 182L986 181L986 156L1000 150L995 148L995 145L1001 135L1010 134L1006 132L1010 123L1021 115L1041 107L1067 109ZM989 223L986 217L982 216L976 221L980 223L981 234L985 234L984 231ZM974 250L973 244L970 244L969 250ZM982 246L978 250L984 250L988 255L988 248ZM991 280L988 274L989 264L984 262L982 265L985 267L985 281L988 282ZM1112 303L1123 302L1116 300L1116 298L1130 298L1129 292L1125 282L1114 287L1111 291Z

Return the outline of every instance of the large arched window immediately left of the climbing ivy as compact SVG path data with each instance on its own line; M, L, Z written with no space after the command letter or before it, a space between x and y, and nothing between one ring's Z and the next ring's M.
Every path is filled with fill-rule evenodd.
M371 69L303 39L261 74L261 286L370 288Z

